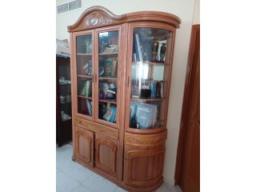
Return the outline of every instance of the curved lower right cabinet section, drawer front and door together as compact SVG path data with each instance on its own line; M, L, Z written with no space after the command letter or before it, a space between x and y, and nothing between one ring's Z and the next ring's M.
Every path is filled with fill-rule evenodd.
M125 134L123 180L134 187L162 182L166 130L158 134Z

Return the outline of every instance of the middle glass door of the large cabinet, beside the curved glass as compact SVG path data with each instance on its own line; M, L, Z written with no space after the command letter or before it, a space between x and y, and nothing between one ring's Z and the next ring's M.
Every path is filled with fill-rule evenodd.
M98 76L96 118L115 126L118 116L118 47L119 30L98 31Z

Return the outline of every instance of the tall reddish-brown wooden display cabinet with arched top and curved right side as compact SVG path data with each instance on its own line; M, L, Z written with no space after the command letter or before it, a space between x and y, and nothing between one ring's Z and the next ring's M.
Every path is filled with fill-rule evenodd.
M128 191L162 184L174 38L180 19L101 6L68 26L73 160Z

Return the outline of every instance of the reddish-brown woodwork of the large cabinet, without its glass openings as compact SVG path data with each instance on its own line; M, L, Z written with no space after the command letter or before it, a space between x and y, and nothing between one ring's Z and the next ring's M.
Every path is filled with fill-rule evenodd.
M72 74L73 139L75 162L86 166L102 177L109 179L127 191L154 191L161 186L166 142L166 117L170 92L170 79L174 54L174 38L181 20L173 15L157 11L140 11L130 14L114 15L102 6L93 6L85 10L78 21L68 26L70 32L70 61ZM130 118L130 74L132 63L134 27L151 27L160 31L170 31L172 38L168 41L168 55L165 68L164 98L152 99L162 101L165 106L160 112L162 126L149 130L131 129ZM118 31L118 54L99 53L99 34ZM90 34L92 37L92 53L77 53L77 38ZM116 39L114 39L116 41ZM98 77L99 57L118 59L118 77ZM84 58L83 58L84 57ZM93 63L92 76L78 74L81 66L78 62L86 62L91 57ZM80 59L80 60L79 60ZM86 60L87 59L87 60ZM151 65L153 65L151 63ZM80 67L80 68L78 68ZM154 69L150 70L153 75ZM92 80L92 116L78 113L78 78ZM98 117L99 105L102 101L99 94L99 80L117 82L116 123L106 122Z

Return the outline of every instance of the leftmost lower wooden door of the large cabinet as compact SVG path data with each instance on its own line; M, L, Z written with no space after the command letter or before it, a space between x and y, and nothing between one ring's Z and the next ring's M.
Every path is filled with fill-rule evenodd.
M94 132L76 126L75 156L82 162L94 166Z

